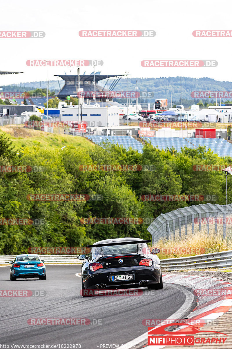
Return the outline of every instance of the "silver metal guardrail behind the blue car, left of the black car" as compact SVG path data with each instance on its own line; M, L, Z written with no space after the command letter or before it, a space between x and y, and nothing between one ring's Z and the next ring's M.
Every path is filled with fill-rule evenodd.
M16 255L11 256L0 256L0 264L7 264L14 261ZM80 260L77 259L77 255L60 255L60 254L41 254L40 258L45 261L45 263L74 263L82 264Z

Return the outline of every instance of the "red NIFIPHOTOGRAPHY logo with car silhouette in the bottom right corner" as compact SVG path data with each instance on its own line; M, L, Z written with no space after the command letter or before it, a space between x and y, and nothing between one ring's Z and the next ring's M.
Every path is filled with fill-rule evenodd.
M173 331L166 331L166 327L170 326L182 326L186 328L181 328L179 333ZM214 335L208 335L207 337L197 337L194 335L198 333L213 333ZM219 334L222 336L217 336ZM223 344L225 343L227 334L216 331L200 330L200 326L193 325L183 325L179 322L173 322L172 324L166 324L157 328L148 327L147 339L149 346L160 346L160 345L170 345L170 346L194 346L194 344Z

